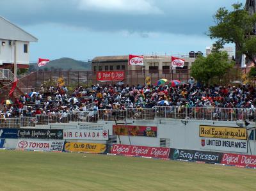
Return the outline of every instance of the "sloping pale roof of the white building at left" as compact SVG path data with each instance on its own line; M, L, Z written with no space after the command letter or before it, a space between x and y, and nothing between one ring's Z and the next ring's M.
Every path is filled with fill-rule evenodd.
M37 42L35 36L27 33L7 19L0 16L0 39Z

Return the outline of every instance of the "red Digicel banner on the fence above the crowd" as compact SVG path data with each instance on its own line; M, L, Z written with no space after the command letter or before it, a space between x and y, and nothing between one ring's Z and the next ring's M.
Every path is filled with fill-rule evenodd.
M98 81L120 81L124 80L125 73L122 71L97 72Z

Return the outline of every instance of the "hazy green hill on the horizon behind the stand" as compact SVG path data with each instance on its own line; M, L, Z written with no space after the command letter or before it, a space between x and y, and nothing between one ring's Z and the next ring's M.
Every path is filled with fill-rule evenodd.
M69 57L61 57L60 59L54 59L49 61L47 65L41 66L39 70L54 70L54 69L62 69L62 70L91 70L92 63L77 61L76 59L72 59ZM37 63L31 63L29 65L29 71L38 70Z

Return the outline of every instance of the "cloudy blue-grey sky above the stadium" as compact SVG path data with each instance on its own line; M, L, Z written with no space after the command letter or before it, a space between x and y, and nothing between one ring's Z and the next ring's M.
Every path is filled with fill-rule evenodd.
M246 0L240 0L245 3ZM151 52L205 52L218 8L237 0L1 0L1 16L38 38L38 57L93 59Z

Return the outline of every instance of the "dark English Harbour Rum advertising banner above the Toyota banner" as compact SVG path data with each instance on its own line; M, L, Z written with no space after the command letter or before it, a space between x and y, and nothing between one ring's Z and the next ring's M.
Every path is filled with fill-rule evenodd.
M62 129L18 129L18 138L23 139L63 139Z

